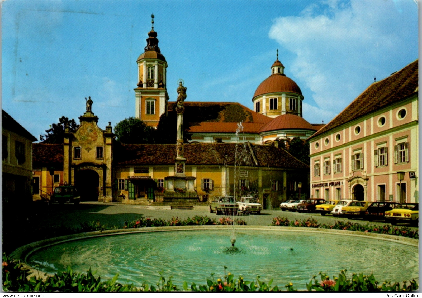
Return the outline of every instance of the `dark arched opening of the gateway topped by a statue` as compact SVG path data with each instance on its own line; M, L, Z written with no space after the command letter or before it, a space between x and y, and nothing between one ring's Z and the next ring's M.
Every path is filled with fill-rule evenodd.
M75 177L76 189L81 194L81 201L98 201L100 176L91 169L79 170Z

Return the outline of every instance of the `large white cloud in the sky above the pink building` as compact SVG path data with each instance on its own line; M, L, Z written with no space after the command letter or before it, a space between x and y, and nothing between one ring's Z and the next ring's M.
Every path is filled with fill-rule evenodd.
M300 16L274 21L269 37L296 55L288 62L289 72L312 92L316 106L308 101L304 109L321 113L304 110L305 118L320 122L324 115L330 120L325 117L340 112L374 75L379 80L413 61L391 69L392 61L409 53L400 45L408 45L409 38L417 44L417 6L410 0L399 6L382 0L326 0L308 6ZM411 52L416 59L417 49Z

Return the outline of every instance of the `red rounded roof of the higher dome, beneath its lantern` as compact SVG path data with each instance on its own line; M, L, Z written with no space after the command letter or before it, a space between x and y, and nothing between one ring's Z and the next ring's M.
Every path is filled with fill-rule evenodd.
M292 92L302 95L302 91L300 91L298 84L294 80L284 74L271 74L258 86L254 98L262 94L275 92Z

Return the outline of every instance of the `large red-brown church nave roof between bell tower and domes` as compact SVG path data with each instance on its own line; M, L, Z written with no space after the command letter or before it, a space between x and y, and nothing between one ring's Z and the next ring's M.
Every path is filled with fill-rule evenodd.
M174 112L174 101L168 103L169 114ZM189 133L235 133L242 122L243 133L257 133L272 118L256 113L236 102L185 101L184 123Z

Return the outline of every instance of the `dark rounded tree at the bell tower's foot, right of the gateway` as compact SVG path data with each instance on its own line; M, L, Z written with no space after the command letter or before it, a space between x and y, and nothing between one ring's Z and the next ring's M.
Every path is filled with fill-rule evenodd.
M129 117L114 126L114 134L123 144L154 144L155 129L138 118Z

